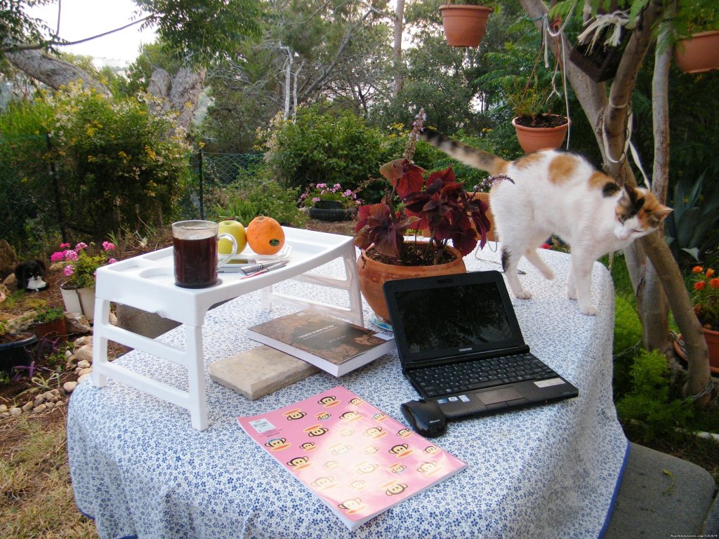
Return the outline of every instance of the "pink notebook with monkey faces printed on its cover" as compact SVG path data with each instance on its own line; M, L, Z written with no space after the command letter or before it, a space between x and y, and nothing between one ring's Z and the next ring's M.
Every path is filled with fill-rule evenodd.
M349 530L467 467L342 386L237 421Z

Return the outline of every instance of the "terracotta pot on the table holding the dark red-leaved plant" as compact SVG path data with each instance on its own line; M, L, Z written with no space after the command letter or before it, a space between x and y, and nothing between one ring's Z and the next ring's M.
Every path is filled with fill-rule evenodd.
M467 267L464 266L462 254L457 249L448 247L450 252L456 257L452 262L447 264L437 264L436 266L395 266L393 264L384 264L377 262L367 256L362 251L357 258L357 274L359 277L359 290L367 300L375 314L387 322L390 321L390 315L385 303L385 295L382 285L385 281L395 279L411 279L413 277L432 277L434 275L450 275L453 273L466 273Z

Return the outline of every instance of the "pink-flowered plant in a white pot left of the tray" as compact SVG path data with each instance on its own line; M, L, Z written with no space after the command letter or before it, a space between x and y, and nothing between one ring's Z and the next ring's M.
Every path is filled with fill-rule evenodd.
M82 313L92 323L95 313L95 274L105 264L116 262L109 258L109 252L115 249L110 241L102 243L101 251L94 244L82 241L70 249L70 244L60 244L60 251L50 257L50 262L64 265L66 279L60 284L65 310L69 313Z

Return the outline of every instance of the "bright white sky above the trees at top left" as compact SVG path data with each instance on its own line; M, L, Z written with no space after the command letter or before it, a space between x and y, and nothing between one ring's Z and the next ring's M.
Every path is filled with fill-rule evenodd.
M67 41L83 40L122 27L132 22L132 14L137 10L132 0L62 0L61 5L60 37ZM52 29L58 24L57 3L37 6L29 10L29 13L47 22ZM141 25L137 24L80 45L60 47L60 50L76 55L92 56L99 67L106 63L116 65L132 63L137 58L139 47L143 43L155 40L152 29L139 31ZM108 62L108 60L115 61Z

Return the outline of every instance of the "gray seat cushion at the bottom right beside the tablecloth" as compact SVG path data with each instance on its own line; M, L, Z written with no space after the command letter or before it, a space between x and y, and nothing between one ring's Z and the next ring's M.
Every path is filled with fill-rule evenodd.
M605 539L697 535L716 484L696 464L632 443Z

